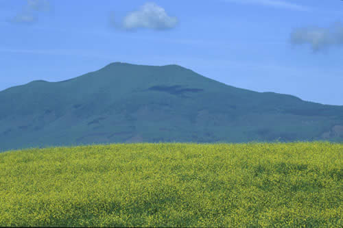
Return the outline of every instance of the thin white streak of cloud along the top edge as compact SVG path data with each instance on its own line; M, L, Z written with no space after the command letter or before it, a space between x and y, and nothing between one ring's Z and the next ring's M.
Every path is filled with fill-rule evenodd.
M298 5L295 3L289 3L281 0L222 0L226 2L235 2L241 4L252 4L252 5L264 5L273 8L283 8L287 10L298 10L298 11L309 11L309 8Z

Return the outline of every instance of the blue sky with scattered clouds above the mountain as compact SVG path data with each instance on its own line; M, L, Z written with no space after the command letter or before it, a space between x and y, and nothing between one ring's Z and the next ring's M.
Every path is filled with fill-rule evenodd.
M343 105L343 1L0 0L0 90L110 62Z

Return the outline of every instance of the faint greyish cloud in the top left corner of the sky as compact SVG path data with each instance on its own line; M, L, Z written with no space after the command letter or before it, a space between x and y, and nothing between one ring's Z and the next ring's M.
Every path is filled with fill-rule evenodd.
M23 23L32 24L37 21L37 17L34 12L49 12L51 6L48 0L27 0L27 4L23 7L23 10L16 14L13 18L10 18L10 23Z

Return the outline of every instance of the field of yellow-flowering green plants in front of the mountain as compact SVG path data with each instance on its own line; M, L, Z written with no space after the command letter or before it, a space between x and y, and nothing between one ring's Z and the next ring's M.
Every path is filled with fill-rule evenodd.
M0 226L342 227L343 144L0 153Z

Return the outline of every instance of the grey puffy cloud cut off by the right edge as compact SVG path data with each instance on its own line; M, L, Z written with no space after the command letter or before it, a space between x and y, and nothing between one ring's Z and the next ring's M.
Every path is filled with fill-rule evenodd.
M309 44L314 52L331 46L343 45L343 25L334 23L330 27L301 27L294 29L290 36L292 45Z

